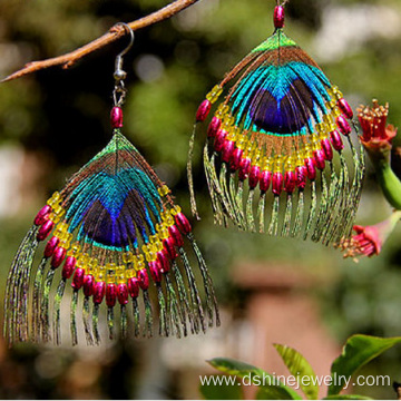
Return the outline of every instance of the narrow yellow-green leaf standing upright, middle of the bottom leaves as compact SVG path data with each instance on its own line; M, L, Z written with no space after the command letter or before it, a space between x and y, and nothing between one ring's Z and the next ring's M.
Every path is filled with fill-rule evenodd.
M301 390L309 400L317 400L319 385L316 374L305 358L296 350L281 344L274 344L280 356L288 368L291 374L296 378Z

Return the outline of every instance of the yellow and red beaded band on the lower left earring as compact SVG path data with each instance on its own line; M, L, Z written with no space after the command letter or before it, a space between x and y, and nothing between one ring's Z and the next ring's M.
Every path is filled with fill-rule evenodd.
M170 193L164 185L158 188L160 196ZM184 245L182 234L192 232L190 224L179 206L162 212L162 222L156 225L156 234L141 247L143 254L128 251L121 256L124 264L106 263L102 265L96 257L81 252L79 242L68 232L68 223L60 219L65 209L60 206L61 196L55 193L35 218L39 226L38 241L45 241L52 232L52 237L45 247L45 257L51 257L51 267L57 268L62 263L62 278L72 276L71 286L75 291L84 288L85 296L92 296L95 304L100 304L106 296L106 304L114 306L116 301L121 305L128 303L128 296L137 297L139 290L149 287L148 267L156 284L162 282L162 275L168 273L170 265L178 257L176 247Z

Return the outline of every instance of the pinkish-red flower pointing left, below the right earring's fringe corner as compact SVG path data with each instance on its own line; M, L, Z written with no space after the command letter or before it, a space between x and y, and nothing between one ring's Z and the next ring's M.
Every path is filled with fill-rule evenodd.
M373 226L353 226L356 235L351 239L343 239L339 246L344 251L344 257L379 255L400 218L401 212L394 212L390 218Z

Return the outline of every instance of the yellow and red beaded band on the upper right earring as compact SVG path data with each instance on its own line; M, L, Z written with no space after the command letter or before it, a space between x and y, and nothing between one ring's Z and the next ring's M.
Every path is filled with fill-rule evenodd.
M197 121L207 118L222 92L221 86L212 89L198 108ZM248 131L235 126L235 119L225 104L218 106L207 136L214 138L214 149L221 153L222 160L229 165L232 172L238 170L241 180L248 179L251 188L260 185L262 192L267 192L272 184L274 195L280 195L283 189L291 194L295 187L303 189L306 178L316 178L316 169L323 170L325 162L333 159L333 149L341 151L344 148L340 133L348 136L352 130L348 119L353 118L353 111L342 92L335 86L327 92L332 100L325 106L330 111L323 116L323 123L315 125L310 141L290 156L265 155L264 149L248 137Z

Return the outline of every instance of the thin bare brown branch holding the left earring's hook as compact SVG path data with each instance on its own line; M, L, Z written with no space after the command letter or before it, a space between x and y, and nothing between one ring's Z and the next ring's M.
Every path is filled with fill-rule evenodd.
M186 9L189 6L193 6L197 1L199 1L199 0L176 0L176 1L172 2L170 4L164 7L163 9L153 12L151 14L149 14L147 17L144 17L136 21L129 22L128 26L130 27L130 29L133 29L133 31L146 28L156 22L164 21L164 20L175 16L179 11ZM67 55L53 57L53 58L50 58L47 60L28 62L23 68L11 74L10 76L8 76L3 80L1 80L1 82L21 78L29 74L32 74L35 71L39 71L39 70L42 70L42 69L46 69L49 67L61 66L65 69L70 68L72 65L75 65L81 58L120 39L126 33L127 33L127 31L125 30L125 28L123 26L111 27L109 29L109 31L107 33L105 33L104 36L101 36L100 38L95 39L94 41L91 41Z

